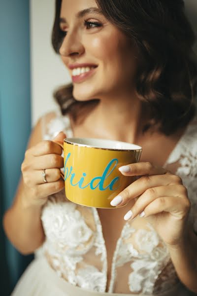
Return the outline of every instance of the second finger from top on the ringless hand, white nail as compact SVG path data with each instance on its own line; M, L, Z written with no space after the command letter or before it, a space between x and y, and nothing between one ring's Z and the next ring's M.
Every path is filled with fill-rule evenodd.
M161 175L142 176L120 192L119 195L111 201L111 205L123 206L131 199L140 196L143 192L152 187L182 184L181 178L172 174L165 174L162 177Z

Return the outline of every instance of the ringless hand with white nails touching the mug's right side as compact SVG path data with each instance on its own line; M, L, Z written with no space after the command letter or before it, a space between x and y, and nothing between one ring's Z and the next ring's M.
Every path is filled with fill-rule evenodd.
M168 246L177 246L187 232L190 201L180 177L150 162L138 162L119 168L124 176L141 176L111 201L123 206L138 197L124 219L148 217ZM122 201L121 201L122 200Z

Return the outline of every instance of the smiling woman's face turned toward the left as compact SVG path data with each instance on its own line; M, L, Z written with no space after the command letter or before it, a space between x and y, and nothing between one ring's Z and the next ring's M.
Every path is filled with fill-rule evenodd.
M102 14L89 12L77 17L77 13L90 7L98 8L95 0L62 0L60 14L60 28L66 32L60 54L66 67L74 63L97 65L82 75L86 77L72 77L73 96L78 101L102 99L125 88L130 91L136 70L131 41ZM72 76L73 70L68 71Z

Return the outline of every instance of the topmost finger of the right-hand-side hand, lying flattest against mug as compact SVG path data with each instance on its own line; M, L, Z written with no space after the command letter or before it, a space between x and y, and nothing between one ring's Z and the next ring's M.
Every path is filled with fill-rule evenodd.
M168 171L163 167L154 166L150 162L136 162L119 167L125 176L163 175Z

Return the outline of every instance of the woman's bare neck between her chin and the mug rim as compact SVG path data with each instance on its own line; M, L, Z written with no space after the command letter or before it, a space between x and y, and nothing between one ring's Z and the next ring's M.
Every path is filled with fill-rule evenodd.
M145 116L135 92L102 97L98 106L87 117L87 126L92 126L98 136L123 142L140 142Z

